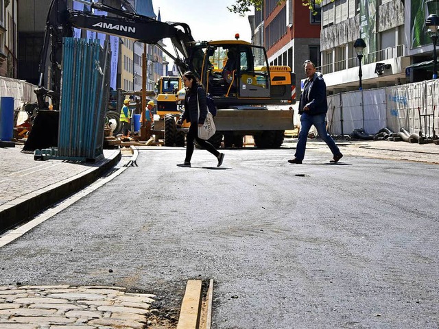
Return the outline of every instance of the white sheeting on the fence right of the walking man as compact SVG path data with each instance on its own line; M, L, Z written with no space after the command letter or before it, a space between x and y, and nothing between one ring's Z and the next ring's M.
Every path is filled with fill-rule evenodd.
M388 127L433 137L439 126L439 80L328 96L328 130L332 135L364 129L376 134Z

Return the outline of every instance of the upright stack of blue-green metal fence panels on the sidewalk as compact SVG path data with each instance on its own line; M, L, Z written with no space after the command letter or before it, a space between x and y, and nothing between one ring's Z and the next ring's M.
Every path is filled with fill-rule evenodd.
M110 84L110 47L99 40L63 38L62 86L56 158L103 158Z

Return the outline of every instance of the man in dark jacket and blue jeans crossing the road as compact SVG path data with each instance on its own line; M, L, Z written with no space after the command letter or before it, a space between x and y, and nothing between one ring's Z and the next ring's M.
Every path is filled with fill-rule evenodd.
M324 83L322 74L316 72L316 65L310 60L305 61L305 87L300 95L299 114L300 114L300 132L296 146L294 159L288 160L289 163L302 163L305 158L305 149L307 147L307 138L311 125L316 127L318 135L331 149L333 160L338 162L343 157L340 149L335 145L333 138L328 134L325 118L328 112L327 85Z

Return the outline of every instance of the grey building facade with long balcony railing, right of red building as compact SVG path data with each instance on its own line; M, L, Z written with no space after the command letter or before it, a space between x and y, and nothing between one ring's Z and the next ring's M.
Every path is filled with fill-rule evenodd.
M359 59L353 47L357 38L366 42L363 89L404 84L405 68L410 65L404 25L401 0L325 0L320 71L329 93L359 88Z

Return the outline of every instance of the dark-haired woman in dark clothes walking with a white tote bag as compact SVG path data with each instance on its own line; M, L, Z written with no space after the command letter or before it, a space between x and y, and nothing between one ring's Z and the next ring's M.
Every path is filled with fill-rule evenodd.
M195 75L191 71L183 74L183 82L186 87L185 112L178 119L177 125L182 125L183 121L191 123L189 132L186 136L186 158L185 162L177 164L178 167L191 167L193 154L193 141L196 140L200 147L211 152L218 160L217 167L221 166L224 160L224 153L219 153L208 141L198 137L198 127L202 126L207 116L206 92L201 84L198 84ZM200 118L198 118L198 104L200 104Z

